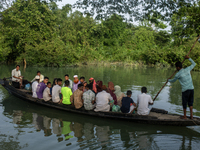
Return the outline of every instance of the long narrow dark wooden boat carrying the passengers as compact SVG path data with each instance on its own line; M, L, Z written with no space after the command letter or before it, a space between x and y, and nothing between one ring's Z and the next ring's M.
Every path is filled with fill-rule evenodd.
M120 119L127 120L136 123L145 123L145 124L158 124L158 125L173 125L173 126L193 126L200 125L200 118L194 117L194 119L180 119L180 115L168 114L167 111L157 108L152 108L151 112L147 116L137 115L137 114L123 114L118 112L94 112L88 111L84 108L75 109L72 105L63 105L63 104L55 104L53 102L45 102L43 100L33 98L31 93L24 89L16 89L8 80L0 79L0 84L14 96L23 99L28 102L33 102L39 105L52 107L72 113L79 113L89 116L103 117L103 118L112 118L112 119Z

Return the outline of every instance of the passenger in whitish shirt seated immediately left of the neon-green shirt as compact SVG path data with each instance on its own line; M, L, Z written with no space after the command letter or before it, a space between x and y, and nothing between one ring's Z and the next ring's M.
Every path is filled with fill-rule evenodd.
M54 85L52 88L52 101L54 103L60 102L61 85L62 85L62 79L58 78L57 84Z

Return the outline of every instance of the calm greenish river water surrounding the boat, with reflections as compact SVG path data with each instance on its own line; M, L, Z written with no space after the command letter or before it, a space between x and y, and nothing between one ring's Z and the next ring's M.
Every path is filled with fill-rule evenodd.
M10 77L14 66L1 66L0 78ZM53 78L69 74L94 77L107 85L112 81L122 92L132 90L132 98L146 86L154 97L173 69L133 67L78 67L78 68L21 68L22 75L32 80L40 70ZM194 115L200 117L199 72L192 72L195 87ZM177 81L167 86L153 107L173 114L182 114L181 87ZM189 110L188 115L189 115ZM120 120L96 118L55 110L29 103L10 95L0 86L0 149L194 149L200 147L200 133L186 127L138 124Z

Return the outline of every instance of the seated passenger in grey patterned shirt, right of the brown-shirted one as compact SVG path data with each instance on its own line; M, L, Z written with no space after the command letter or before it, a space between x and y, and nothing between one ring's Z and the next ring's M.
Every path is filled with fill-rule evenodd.
M93 110L95 105L95 93L92 92L89 85L86 85L86 92L83 93L84 108L86 110Z

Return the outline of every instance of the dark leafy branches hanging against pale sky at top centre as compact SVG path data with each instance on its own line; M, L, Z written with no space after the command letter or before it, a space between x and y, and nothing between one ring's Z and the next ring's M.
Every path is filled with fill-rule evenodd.
M154 14L169 21L179 8L190 6L192 3L191 0L77 0L75 6L84 9L87 13L87 9L90 9L90 14L95 14L97 19L112 14L129 14L136 20L144 20Z

